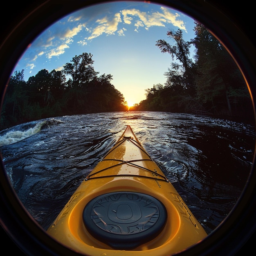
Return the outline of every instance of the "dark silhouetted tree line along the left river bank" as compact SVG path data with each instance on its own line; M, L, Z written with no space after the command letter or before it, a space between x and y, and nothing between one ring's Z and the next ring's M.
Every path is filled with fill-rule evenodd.
M92 54L72 58L63 70L40 70L24 80L24 70L10 77L1 112L1 128L27 121L94 112L127 110L123 94L99 75Z

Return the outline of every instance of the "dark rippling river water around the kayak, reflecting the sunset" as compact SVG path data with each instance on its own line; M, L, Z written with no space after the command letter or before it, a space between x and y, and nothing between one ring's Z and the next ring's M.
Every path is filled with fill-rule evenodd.
M2 160L27 211L47 229L127 125L211 233L236 204L251 171L253 124L130 111L55 117L2 130Z

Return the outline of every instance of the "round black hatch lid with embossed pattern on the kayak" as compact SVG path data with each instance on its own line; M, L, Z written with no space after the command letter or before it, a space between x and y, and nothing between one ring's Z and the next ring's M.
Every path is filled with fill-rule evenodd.
M133 249L152 240L162 231L166 218L162 202L136 192L99 195L83 210L90 234L115 249Z

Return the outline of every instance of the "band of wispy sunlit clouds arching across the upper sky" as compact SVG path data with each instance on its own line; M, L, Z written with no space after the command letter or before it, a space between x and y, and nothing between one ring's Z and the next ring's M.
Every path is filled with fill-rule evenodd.
M173 10L160 7L159 11L149 12L140 11L139 9L123 9L114 14L107 13L103 18L99 18L104 12L98 12L96 21L93 16L90 17L90 26L88 20L79 11L77 17L70 16L67 20L62 20L57 24L54 30L48 30L43 36L37 40L36 48L40 49L40 53L34 56L34 60L38 56L45 55L47 58L59 56L65 53L65 49L73 43L74 36L84 32L87 34L82 40L76 40L79 45L86 45L88 40L97 38L103 34L125 36L128 27L133 26L134 31L139 33L139 29L148 30L152 26L165 27L168 24L186 31L185 24L178 13ZM88 13L87 13L88 14ZM76 23L76 25L74 24ZM67 27L67 24L70 26ZM93 25L94 24L94 25ZM73 25L72 28L71 25ZM65 30L63 30L63 27ZM44 51L42 51L44 49ZM32 60L32 59L31 59Z

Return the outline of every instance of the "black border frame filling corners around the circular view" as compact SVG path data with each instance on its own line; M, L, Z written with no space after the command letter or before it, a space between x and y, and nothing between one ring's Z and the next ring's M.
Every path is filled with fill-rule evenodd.
M27 0L4 2L1 16L0 37L0 92L5 85L18 58L27 45L41 31L62 16L86 5L106 2L104 0ZM245 1L230 5L214 0L159 0L151 1L172 5L206 25L227 47L245 76L251 91L252 102L256 99L256 50L253 31L254 8ZM231 2L234 4L234 2ZM252 16L249 16L252 15ZM251 19L251 20L250 20ZM254 106L255 108L255 106ZM81 255L67 249L50 238L22 207L0 163L0 224L2 249L22 252L27 255ZM236 206L223 223L206 239L181 256L234 255L247 252L256 229L256 172L255 162ZM5 243L7 241L7 243ZM9 243L13 242L12 247ZM86 254L86 252L85 252Z

